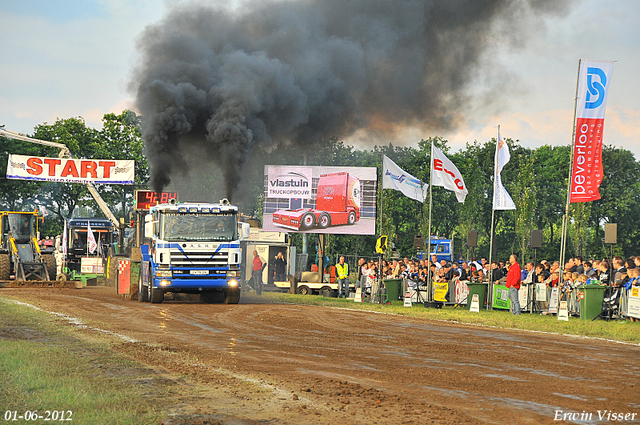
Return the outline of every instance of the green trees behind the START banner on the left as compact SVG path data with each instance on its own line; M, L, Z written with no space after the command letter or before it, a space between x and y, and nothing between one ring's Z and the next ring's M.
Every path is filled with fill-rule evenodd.
M146 188L149 171L143 154L140 119L131 111L106 114L101 130L90 128L82 118L58 119L53 124L36 126L27 136L67 145L74 158L133 159L136 185L96 185L116 217L128 219L133 191ZM12 129L9 129L12 130ZM59 149L0 137L0 208L8 211L33 211L44 206L49 216L40 224L42 236L62 233L63 219L82 216L82 210L102 217L85 185L57 182L8 180L9 154L58 157Z

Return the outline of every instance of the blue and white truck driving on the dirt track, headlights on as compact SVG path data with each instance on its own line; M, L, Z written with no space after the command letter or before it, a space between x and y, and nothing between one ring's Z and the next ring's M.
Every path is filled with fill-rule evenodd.
M240 301L240 241L249 224L238 222L229 201L152 206L144 234L139 301L161 303L167 292L200 294L206 303Z

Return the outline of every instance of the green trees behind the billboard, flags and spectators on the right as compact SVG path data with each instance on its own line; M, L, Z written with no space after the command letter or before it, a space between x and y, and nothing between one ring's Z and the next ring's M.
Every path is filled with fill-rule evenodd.
M355 149L330 140L311 145L307 152L291 152L286 146L279 146L271 152L263 152L260 158L265 164L302 164L306 154L309 165L378 167L381 170L384 154L408 173L429 182L432 140L456 164L464 176L469 194L465 203L460 204L453 192L441 187L433 188L431 233L453 238L457 255L488 258L495 139L467 143L455 152L451 151L446 140L439 137L422 140L417 147L389 144L370 150ZM506 259L513 252L524 259L534 255L537 259L559 259L570 148L542 146L530 149L511 139L507 139L507 144L511 161L502 171L502 181L517 209L495 213L494 258ZM608 257L610 247L603 243L605 223L618 224L618 243L614 246L614 253L640 254L640 163L630 151L613 146L604 147L602 159L602 199L570 206L568 256ZM253 168L260 167L256 164ZM427 235L428 202L423 205L393 190L385 190L381 199L383 233L394 242L402 256L414 255L414 236L424 235L426 238ZM256 210L260 208L259 204L254 207ZM531 230L543 232L543 247L535 252L529 247ZM466 246L469 231L478 232L478 247L473 250ZM370 255L374 247L375 237L335 235L330 236L327 251L330 258L333 258L331 254Z

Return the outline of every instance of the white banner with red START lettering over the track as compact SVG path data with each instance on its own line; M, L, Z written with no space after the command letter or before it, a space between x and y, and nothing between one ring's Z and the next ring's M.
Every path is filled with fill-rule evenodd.
M7 178L63 183L133 184L132 159L71 159L9 155Z

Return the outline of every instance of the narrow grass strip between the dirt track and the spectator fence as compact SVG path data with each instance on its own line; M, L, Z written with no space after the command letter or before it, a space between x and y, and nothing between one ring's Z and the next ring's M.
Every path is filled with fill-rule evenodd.
M243 297L245 297L245 295L243 295ZM256 298L258 297L255 295L247 295L245 300L250 301ZM565 322L558 320L555 316L543 316L540 314L523 313L520 316L514 316L505 310L483 310L480 313L472 313L466 310L465 307L454 308L453 306L447 306L441 309L434 309L424 308L422 304L414 304L412 308L408 308L404 307L402 301L395 301L392 305L355 303L345 299L326 298L315 295L293 295L279 292L264 292L262 298L268 302L351 308L421 319L495 326L504 329L552 332L640 344L640 323L630 322L628 320L586 321L579 318L570 318L568 322Z

